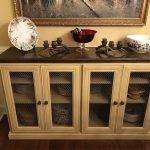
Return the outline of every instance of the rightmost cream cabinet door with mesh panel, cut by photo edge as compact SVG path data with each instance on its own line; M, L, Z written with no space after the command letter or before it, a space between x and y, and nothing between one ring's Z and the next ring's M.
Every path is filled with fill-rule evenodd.
M150 126L150 67L125 66L123 74L117 131L147 132Z

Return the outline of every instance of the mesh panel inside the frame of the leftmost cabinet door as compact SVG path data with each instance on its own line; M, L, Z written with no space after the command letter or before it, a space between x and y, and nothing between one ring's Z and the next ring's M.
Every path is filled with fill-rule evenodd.
M38 127L32 72L10 72L10 81L19 127Z

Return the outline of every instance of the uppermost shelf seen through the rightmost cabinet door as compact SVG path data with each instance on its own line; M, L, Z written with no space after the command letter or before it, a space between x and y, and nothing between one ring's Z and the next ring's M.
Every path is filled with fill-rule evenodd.
M139 76L131 77L130 84L149 84L150 80L148 78L142 78Z

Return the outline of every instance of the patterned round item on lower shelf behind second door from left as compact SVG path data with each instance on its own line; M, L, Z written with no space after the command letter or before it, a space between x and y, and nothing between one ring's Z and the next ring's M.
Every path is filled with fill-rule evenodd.
M53 123L60 125L72 124L72 109L70 104L53 104L52 118Z

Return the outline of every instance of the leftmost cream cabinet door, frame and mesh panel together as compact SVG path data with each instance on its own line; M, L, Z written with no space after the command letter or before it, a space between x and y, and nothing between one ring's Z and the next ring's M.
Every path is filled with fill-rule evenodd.
M5 66L2 79L12 128L15 132L42 130L39 68Z

